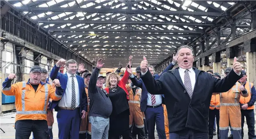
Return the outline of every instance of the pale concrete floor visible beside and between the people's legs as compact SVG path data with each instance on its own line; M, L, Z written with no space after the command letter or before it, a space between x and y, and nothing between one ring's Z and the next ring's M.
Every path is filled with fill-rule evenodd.
M53 139L58 139L58 124L56 119L57 112L54 112L55 123L53 124ZM14 129L14 121L15 121L16 113L6 113L0 117L0 127L4 132L0 131L0 138L1 139L15 139L15 129ZM248 139L248 128L246 122L244 124L244 139ZM155 131L155 137L157 137L157 133ZM32 139L32 135L30 136ZM214 136L213 139L217 139L217 136Z

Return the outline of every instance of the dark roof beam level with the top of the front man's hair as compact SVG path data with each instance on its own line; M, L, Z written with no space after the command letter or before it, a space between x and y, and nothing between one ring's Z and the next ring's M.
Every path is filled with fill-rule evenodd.
M72 48L72 49L75 49L76 51L87 51L87 49L99 49L102 50L102 49L151 49L151 50L170 50L169 52L175 52L178 48L169 48L169 47L102 47L102 46L97 46L97 47L89 47L89 46L85 46L85 47L75 47L75 48ZM115 51L115 50L114 50ZM132 51L131 51L132 52Z

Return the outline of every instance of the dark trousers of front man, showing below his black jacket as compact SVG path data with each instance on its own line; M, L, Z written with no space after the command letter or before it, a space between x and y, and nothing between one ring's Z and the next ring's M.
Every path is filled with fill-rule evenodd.
M170 132L170 139L208 139L208 133L186 128L181 131Z

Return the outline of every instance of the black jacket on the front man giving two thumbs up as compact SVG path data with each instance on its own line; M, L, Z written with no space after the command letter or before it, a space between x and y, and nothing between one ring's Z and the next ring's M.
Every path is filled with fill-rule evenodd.
M167 71L155 80L149 70L140 75L146 89L151 94L164 94L168 113L169 131L175 132L187 128L208 132L208 112L213 92L226 92L241 77L234 70L224 79L216 79L205 71L195 71L195 87L190 99L179 75L179 68Z

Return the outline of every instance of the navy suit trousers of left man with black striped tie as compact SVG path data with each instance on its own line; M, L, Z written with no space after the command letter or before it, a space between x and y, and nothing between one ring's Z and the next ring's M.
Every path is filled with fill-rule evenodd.
M59 109L57 113L59 139L79 139L81 123L80 109Z

